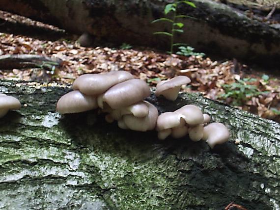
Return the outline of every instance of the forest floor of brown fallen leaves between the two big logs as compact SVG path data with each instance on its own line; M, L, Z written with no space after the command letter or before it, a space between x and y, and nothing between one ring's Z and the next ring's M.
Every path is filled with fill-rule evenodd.
M1 11L0 19L58 30ZM236 59L217 61L201 55L168 55L130 48L128 44L120 48L84 48L72 40L50 41L3 32L0 33L0 55L37 54L59 58L62 63L53 70L41 67L0 70L0 79L72 84L83 74L124 70L155 86L161 80L184 75L191 83L182 87L183 92L200 92L212 100L280 122L280 79L276 76L256 73Z

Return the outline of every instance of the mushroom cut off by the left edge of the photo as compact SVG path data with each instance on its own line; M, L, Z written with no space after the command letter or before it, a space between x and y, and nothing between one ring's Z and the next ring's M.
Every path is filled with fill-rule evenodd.
M12 96L0 93L0 118L7 114L9 110L20 109L21 103Z

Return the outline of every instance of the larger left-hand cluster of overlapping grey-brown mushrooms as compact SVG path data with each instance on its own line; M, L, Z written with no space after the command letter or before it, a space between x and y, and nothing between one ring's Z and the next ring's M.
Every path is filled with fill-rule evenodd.
M73 83L73 91L56 105L60 114L101 108L108 122L118 121L121 129L149 131L156 127L157 108L143 101L150 96L149 86L125 71L85 74Z

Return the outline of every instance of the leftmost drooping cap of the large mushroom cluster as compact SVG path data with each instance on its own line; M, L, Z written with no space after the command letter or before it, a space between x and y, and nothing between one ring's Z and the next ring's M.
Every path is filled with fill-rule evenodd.
M97 99L86 96L78 90L71 91L62 96L56 105L60 114L78 113L97 108Z

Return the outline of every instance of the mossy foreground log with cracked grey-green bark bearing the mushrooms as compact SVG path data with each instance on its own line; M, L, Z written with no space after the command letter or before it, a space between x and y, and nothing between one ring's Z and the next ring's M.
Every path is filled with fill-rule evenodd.
M200 95L148 99L160 112L196 104L224 123L230 141L211 150L121 130L96 111L60 116L68 91L0 80L23 105L0 119L1 209L279 209L279 124Z

